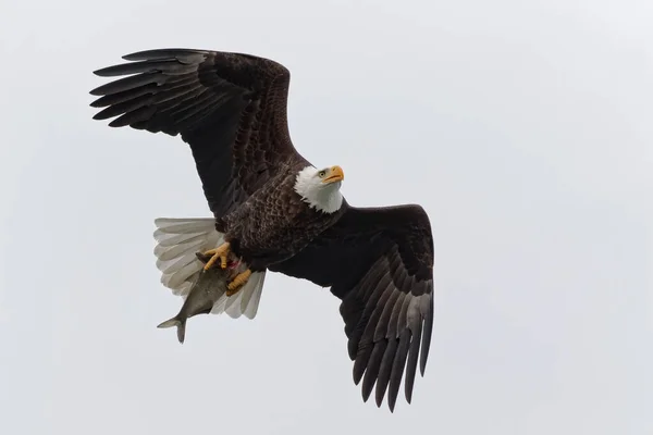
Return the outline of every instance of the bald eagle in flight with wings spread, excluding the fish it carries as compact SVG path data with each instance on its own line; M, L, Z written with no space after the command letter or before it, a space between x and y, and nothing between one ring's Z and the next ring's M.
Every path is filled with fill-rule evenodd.
M289 72L250 54L157 49L95 72L123 76L90 91L94 119L181 135L188 144L213 217L158 219L162 283L185 296L229 254L247 265L229 283L226 311L254 319L267 271L330 287L362 398L375 385L394 410L402 377L410 402L423 376L433 326L433 239L420 206L349 206L344 171L316 166L291 141ZM201 264L195 253L210 261ZM217 302L218 304L219 302ZM420 350L421 349L421 350Z

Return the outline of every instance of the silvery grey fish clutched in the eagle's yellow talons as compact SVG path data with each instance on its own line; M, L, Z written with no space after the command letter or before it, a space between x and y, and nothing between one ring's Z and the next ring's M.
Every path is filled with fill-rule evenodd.
M196 252L199 261L206 264L210 256ZM208 314L213 309L215 301L226 293L227 281L235 275L239 262L230 261L226 269L211 268L198 274L197 279L190 287L190 291L182 306L180 312L157 327L168 328L176 326L177 339L184 344L186 337L186 321L197 314Z

